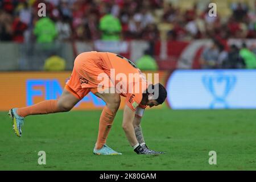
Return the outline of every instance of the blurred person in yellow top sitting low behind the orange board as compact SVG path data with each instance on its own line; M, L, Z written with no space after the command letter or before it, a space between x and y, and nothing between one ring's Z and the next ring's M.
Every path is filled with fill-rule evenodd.
M65 70L65 60L60 56L53 54L44 61L45 71L64 71Z

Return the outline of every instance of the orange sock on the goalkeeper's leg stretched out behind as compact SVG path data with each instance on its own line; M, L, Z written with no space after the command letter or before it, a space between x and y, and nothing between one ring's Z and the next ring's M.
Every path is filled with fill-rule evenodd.
M22 107L17 110L17 114L21 117L26 117L27 115L33 114L49 114L60 112L57 107L57 100L47 100L39 102L38 104Z

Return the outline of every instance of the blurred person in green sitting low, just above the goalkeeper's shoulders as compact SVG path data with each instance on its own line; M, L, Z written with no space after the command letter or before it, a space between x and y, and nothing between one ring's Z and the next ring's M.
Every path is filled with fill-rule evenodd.
M136 63L137 67L141 70L158 70L158 64L156 63L156 60L152 56L150 56L149 50L144 51L144 55L139 58Z

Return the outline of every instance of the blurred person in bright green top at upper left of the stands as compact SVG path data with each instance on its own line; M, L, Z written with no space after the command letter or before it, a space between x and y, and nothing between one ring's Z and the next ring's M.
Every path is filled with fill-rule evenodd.
M48 17L40 18L34 28L36 42L38 43L51 43L57 36L55 23Z

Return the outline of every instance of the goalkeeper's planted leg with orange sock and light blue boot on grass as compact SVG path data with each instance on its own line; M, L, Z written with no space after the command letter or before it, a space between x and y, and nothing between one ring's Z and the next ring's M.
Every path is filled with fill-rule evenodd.
M96 145L93 149L93 154L97 155L121 155L121 153L114 151L112 148L106 146L106 139L108 138L109 131L113 125L115 114L120 105L119 94L99 94L96 96L102 98L106 102L106 106L102 110L98 138Z

